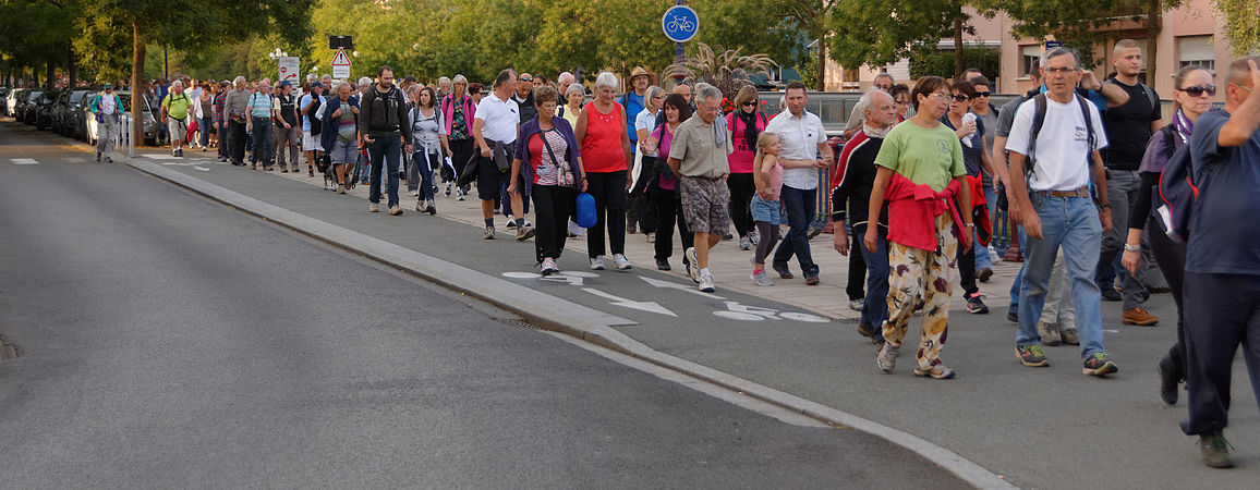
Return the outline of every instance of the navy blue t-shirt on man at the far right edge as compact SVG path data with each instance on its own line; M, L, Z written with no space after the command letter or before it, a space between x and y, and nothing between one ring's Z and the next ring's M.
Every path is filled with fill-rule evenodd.
M1189 136L1198 198L1189 215L1186 272L1260 275L1260 131L1242 146L1221 147L1225 111L1205 113Z

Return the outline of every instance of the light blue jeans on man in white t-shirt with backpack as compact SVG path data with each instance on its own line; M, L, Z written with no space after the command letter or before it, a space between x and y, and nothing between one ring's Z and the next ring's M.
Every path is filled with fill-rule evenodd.
M1023 277L1019 281L1019 331L1016 345L1041 343L1037 320L1046 305L1050 275L1055 256L1063 247L1063 265L1072 282L1072 304L1076 306L1076 328L1081 335L1081 356L1102 353L1102 297L1094 282L1102 244L1102 224L1090 198L1055 198L1032 194L1032 207L1041 218L1042 239L1027 237L1019 242L1024 253Z

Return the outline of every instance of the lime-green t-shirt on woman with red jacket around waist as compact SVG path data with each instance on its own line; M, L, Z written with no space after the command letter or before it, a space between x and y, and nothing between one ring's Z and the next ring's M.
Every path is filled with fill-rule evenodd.
M926 128L905 121L883 139L874 164L935 191L945 190L955 176L966 175L963 164L963 144L945 125Z

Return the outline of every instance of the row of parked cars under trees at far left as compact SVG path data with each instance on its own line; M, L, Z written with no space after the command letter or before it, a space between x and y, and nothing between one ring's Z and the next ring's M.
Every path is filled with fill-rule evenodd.
M98 88L16 88L0 87L0 111L15 121L35 126L40 131L53 131L66 137L96 144L96 117L88 106L101 93ZM122 112L131 112L131 92L115 91L122 100ZM141 97L144 106L145 145L158 142L158 121Z

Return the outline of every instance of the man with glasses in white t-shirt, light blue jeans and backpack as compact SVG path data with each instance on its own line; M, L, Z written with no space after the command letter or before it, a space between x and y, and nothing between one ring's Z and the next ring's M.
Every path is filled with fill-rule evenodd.
M1024 270L1016 355L1028 367L1050 365L1041 350L1037 320L1046 302L1055 256L1062 246L1085 358L1082 372L1101 377L1119 370L1102 348L1101 293L1094 282L1102 233L1111 227L1111 205L1099 155L1108 140L1097 108L1076 94L1081 78L1076 52L1067 48L1046 52L1041 72L1047 92L1019 106L1005 147L1014 176L1008 189L1016 203L1012 213L1017 213L1028 236L1027 243L1021 243ZM1037 130L1041 111L1045 113ZM1024 175L1029 155L1032 175L1026 184L1019 175ZM1091 179L1096 203L1090 194Z

